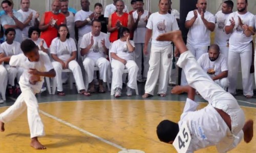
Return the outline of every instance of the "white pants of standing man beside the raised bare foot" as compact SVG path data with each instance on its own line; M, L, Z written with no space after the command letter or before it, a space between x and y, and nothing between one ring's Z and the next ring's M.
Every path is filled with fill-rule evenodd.
M169 55L169 57L168 57ZM173 59L172 45L154 46L151 45L150 53L150 69L147 72L147 80L145 84L145 93L154 95L154 89L159 79L159 86L157 94L166 93L170 61Z

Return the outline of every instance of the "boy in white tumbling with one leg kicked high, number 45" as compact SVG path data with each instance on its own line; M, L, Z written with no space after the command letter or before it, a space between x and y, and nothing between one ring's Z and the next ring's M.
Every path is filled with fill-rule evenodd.
M180 31L169 32L157 40L173 41L181 56L177 63L183 68L189 86L176 86L172 93L188 93L186 105L178 123L163 120L157 126L160 141L173 144L180 127L187 124L191 141L186 152L216 145L219 152L236 147L244 137L246 143L253 137L253 120L245 122L243 110L237 100L215 84L197 63L193 54L185 46ZM209 104L196 110L195 89Z

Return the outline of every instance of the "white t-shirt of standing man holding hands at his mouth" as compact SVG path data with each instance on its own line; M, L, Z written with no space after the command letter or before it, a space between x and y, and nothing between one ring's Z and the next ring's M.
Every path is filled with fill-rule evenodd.
M197 12L198 13L198 12ZM186 21L191 20L193 18L194 11L190 11L187 14ZM215 23L215 17L208 11L205 11L204 18L211 23ZM198 13L198 17L192 27L190 27L187 34L187 43L194 46L209 46L210 45L210 30L208 30L203 20L201 19L200 13Z

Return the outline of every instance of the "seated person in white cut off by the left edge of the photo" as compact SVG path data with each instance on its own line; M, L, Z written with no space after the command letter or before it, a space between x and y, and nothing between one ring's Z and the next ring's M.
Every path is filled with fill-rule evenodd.
M5 53L3 51L3 48L0 45L0 59L5 57ZM2 98L0 97L0 104L4 103L5 99L5 91L6 91L6 86L7 86L7 70L4 67L3 63L0 63L0 94L2 94Z

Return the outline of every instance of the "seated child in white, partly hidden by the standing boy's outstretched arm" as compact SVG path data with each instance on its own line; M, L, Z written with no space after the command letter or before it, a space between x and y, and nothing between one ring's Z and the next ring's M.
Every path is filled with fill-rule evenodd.
M1 44L1 47L3 48L5 55L7 57L11 57L13 55L22 54L22 50L20 49L20 43L17 41L14 41L16 32L13 28L8 28L5 31L6 41ZM16 93L19 89L18 85L14 84L15 78L17 79L17 83L19 82L20 75L23 73L23 68L21 67L13 67L10 66L8 61L5 62L5 68L8 71L8 90L9 94L13 94L13 89L15 89Z

